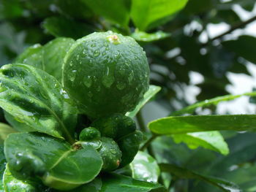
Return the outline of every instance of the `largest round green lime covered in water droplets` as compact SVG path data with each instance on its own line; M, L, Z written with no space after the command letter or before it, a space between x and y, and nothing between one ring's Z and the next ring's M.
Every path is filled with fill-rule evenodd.
M98 32L78 39L64 58L63 85L91 119L131 111L148 90L146 54L132 37Z

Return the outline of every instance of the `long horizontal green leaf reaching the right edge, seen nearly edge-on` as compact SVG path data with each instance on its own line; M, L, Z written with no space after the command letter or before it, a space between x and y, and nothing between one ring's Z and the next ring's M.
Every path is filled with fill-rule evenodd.
M155 134L187 134L201 131L249 131L255 129L256 115L195 115L153 120L148 128Z

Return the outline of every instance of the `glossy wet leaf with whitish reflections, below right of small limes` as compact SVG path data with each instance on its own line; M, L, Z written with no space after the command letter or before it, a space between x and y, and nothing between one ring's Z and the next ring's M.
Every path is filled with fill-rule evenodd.
M157 161L148 153L139 151L129 166L133 178L157 183L160 169Z

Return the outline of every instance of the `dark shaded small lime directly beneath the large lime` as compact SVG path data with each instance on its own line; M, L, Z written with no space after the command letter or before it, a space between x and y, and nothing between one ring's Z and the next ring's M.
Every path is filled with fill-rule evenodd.
M99 118L91 123L91 126L97 128L102 134L102 137L110 137L115 140L136 130L135 121L121 113L114 113Z

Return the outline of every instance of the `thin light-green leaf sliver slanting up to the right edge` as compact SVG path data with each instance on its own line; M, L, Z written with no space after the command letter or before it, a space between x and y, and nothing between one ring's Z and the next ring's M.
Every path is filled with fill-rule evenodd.
M176 112L172 112L170 115L182 115L182 114L185 114L185 113L192 113L198 107L207 107L207 106L210 106L212 104L217 105L221 101L230 101L230 100L233 100L233 99L237 99L241 96L256 96L256 91L249 92L249 93L244 93L244 94L240 94L240 95L236 95L236 96L227 95L227 96L218 96L214 99L207 99L205 101L200 101L200 102L197 102L195 104L189 105L188 107L185 107L185 108L183 108L181 110L178 110Z

